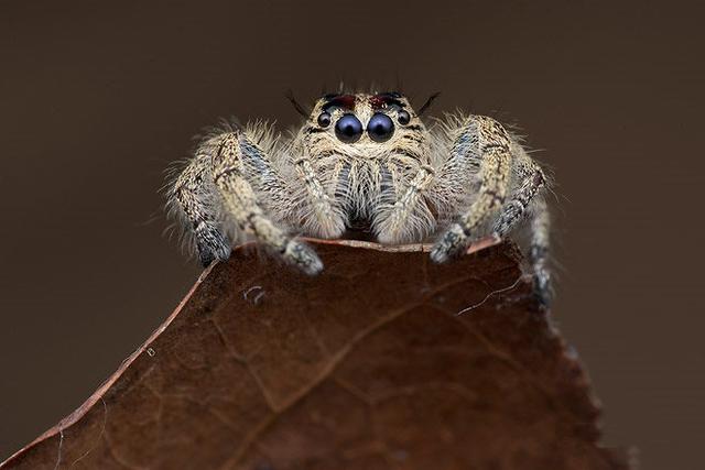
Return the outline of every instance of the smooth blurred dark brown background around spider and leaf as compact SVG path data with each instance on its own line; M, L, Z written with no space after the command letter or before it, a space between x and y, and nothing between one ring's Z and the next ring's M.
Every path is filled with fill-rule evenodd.
M520 123L554 168L554 317L605 442L705 441L703 8L642 1L0 6L0 460L78 406L199 269L158 189L217 118L299 122L340 80ZM304 6L300 6L305 3Z

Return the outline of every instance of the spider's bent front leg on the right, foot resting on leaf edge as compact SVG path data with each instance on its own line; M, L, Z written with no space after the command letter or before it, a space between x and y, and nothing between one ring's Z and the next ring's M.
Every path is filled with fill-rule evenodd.
M460 215L431 250L431 259L446 261L481 236L480 227L505 204L511 167L511 139L491 118L470 116L457 129L451 154L440 179L452 193L464 190L467 175L479 168L479 190L469 209Z

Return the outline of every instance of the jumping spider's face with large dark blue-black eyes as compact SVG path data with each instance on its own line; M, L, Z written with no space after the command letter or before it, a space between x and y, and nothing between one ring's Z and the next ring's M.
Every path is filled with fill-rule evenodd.
M304 132L315 151L375 157L406 141L423 142L425 128L409 100L394 91L326 95L318 99Z

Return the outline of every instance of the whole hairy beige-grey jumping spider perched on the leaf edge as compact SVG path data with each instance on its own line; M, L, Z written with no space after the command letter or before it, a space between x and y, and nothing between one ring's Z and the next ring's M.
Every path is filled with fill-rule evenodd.
M253 239L308 274L323 270L297 234L337 239L365 222L381 243L435 237L445 262L484 236L530 223L534 292L550 302L547 178L520 139L463 112L426 125L402 94L324 95L297 131L224 122L203 138L169 186L169 205L200 262L227 260Z

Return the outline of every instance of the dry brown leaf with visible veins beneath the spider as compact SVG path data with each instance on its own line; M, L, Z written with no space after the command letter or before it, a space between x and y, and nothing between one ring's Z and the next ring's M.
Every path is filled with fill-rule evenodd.
M628 467L598 446L586 376L513 245L438 266L422 245L313 242L318 277L245 249L206 270L80 408L2 468Z

